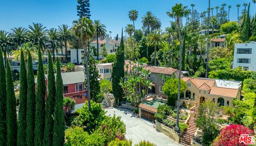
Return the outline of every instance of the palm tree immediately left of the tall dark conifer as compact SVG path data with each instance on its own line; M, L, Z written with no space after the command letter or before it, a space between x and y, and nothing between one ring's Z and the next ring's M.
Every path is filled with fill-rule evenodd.
M61 25L58 27L59 27L58 33L60 36L60 40L65 45L65 60L67 61L68 60L68 45L67 45L67 43L70 40L73 40L74 37L73 37L73 35L71 33L71 29L68 25Z

